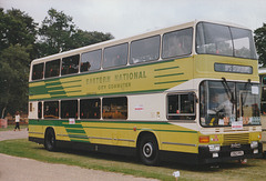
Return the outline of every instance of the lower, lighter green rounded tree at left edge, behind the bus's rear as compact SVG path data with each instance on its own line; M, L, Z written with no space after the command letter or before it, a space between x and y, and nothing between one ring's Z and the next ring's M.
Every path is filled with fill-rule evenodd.
M28 104L28 72L30 48L20 44L10 46L0 56L0 112L1 118L8 111L25 111Z

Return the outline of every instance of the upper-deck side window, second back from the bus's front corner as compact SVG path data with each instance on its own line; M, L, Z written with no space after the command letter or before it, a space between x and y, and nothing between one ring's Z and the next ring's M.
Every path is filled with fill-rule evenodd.
M131 43L130 63L157 60L160 54L160 36L136 40Z

